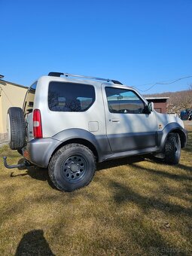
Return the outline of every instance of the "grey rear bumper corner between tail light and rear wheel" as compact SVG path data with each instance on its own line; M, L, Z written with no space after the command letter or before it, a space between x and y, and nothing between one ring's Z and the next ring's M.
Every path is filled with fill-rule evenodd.
M23 157L35 166L47 168L53 151L60 143L60 141L53 138L32 139L23 148Z

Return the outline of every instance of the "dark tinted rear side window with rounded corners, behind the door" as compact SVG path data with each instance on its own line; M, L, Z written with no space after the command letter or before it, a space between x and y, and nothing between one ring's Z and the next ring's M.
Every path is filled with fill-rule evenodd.
M50 82L48 106L51 111L87 111L95 101L95 90L89 84Z

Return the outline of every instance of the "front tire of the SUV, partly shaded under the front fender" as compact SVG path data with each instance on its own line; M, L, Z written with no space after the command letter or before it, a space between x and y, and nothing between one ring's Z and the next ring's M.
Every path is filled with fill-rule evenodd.
M165 162L178 164L181 157L181 141L178 133L170 133L166 139Z

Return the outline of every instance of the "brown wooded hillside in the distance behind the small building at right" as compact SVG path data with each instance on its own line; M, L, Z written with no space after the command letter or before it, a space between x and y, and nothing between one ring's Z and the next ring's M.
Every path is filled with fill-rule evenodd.
M169 97L167 112L179 114L185 108L192 108L192 90L182 90L175 93L145 94L145 97Z

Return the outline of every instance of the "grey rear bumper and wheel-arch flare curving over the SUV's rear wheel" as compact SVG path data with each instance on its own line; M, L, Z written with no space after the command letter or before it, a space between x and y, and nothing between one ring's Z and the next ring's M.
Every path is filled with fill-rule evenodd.
M106 136L96 138L92 133L85 130L71 129L63 130L51 138L30 141L26 146L26 151L30 152L29 161L37 166L47 168L56 151L70 143L81 144L89 148L96 157L97 162L102 160L106 151L107 153L110 151Z

